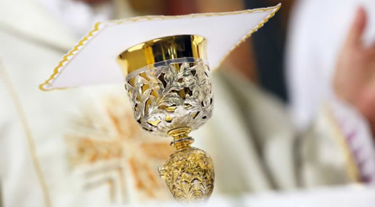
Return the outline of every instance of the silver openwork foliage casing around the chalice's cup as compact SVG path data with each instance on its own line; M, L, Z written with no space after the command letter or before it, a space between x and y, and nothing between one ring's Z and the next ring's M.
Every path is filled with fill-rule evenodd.
M210 69L187 57L145 66L126 76L125 87L135 120L149 132L164 135L178 127L201 127L212 115Z

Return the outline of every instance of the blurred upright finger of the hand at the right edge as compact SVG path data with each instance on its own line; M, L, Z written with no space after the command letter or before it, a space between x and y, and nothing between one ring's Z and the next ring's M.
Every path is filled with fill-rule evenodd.
M367 15L365 8L362 6L358 8L356 12L356 17L354 18L353 23L351 24L351 28L349 30L349 35L347 37L347 44L353 46L353 45L360 45L361 44L361 37L363 35L363 32L366 28L366 22L367 22Z

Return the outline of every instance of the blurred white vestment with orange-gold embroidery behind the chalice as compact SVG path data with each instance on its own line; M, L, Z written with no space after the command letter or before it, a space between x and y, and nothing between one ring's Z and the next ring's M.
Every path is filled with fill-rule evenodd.
M122 100L122 85L38 89L76 43L69 28L26 0L0 1L0 23L3 204L105 206L170 199L156 171L169 155L160 146L169 140L131 137L140 129L128 127L135 121L127 116L131 109ZM192 137L193 146L213 157L214 195L353 181L326 116L314 132L328 138L297 138L280 102L230 72L213 76L213 117ZM119 132L124 140L106 140Z

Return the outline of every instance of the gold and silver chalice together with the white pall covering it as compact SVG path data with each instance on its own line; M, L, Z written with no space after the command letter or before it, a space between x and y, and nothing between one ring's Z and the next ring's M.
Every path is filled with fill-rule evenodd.
M214 188L213 160L191 146L189 133L213 114L211 72L280 6L99 22L40 89L124 84L140 127L173 138L176 151L158 168L173 197L206 201Z

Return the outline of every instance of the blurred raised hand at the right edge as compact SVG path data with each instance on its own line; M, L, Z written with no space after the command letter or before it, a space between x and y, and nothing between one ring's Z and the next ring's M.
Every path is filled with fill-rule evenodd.
M375 44L363 46L366 21L365 9L359 8L338 57L333 88L367 118L375 134Z

